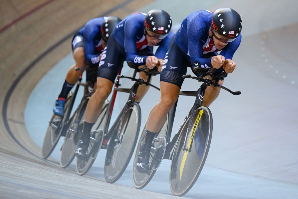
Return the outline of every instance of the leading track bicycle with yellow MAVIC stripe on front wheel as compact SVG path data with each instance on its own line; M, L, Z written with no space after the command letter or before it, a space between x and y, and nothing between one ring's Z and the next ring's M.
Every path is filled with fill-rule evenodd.
M167 121L161 131L153 139L150 149L150 161L148 173L140 173L135 165L138 160L138 152L145 140L145 128L140 136L134 158L132 170L133 184L137 189L144 188L152 179L162 159L171 160L170 188L174 195L186 194L194 185L203 169L209 151L212 137L212 114L208 107L202 106L205 90L208 86L220 87L233 95L240 95L240 91L232 92L228 88L219 85L226 74L221 74L210 79L203 79L207 73L200 73L198 77L183 75L183 78L192 78L203 82L197 91L180 91L179 95L194 96L195 103L185 117L180 128L173 136L171 133L176 112L176 103L167 115ZM215 82L212 82L215 80Z

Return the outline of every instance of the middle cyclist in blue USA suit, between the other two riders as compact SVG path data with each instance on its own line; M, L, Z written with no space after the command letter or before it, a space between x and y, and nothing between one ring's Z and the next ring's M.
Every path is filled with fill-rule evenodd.
M87 155L91 128L100 114L103 102L111 93L114 80L123 62L132 61L139 67L146 65L149 69L155 66L161 70L165 53L170 45L174 33L171 30L172 19L164 10L150 10L145 13L134 13L119 24L105 47L97 73L97 90L90 98L83 124L83 133L76 150L78 158ZM155 55L153 46L158 45ZM144 72L140 78L147 80ZM148 90L148 86L141 85L136 94L139 102ZM103 144L108 141L104 140Z

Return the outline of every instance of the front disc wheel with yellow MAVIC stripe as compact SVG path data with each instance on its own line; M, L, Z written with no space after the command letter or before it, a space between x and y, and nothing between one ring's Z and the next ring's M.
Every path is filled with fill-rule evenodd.
M176 196L186 194L203 169L212 137L212 115L209 108L197 107L188 135L187 127L184 126L178 138L170 167L170 188Z

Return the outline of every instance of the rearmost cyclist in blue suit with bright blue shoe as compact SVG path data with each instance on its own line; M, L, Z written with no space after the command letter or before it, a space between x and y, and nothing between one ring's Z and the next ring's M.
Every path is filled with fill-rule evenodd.
M75 71L75 67L94 67L98 64L101 53L106 46L114 27L121 21L115 16L93 18L78 30L72 39L72 53L75 64L69 68L62 90L55 102L53 112L64 115L64 104L69 91L79 80L82 70ZM92 75L86 72L86 80L91 80Z

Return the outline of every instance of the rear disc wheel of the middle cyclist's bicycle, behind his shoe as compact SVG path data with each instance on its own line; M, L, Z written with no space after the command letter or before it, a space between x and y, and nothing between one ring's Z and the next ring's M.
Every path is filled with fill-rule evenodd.
M93 128L91 129L90 141L88 146L88 158L86 160L78 159L76 161L76 170L77 174L85 175L89 169L91 168L97 154L100 150L100 147L103 143L104 137L104 126L105 121L107 119L107 111L108 111L108 101L105 101L103 105L103 110L97 118Z

